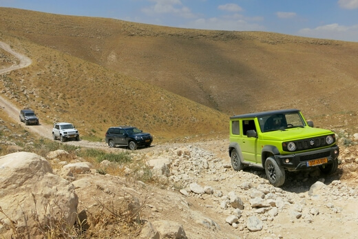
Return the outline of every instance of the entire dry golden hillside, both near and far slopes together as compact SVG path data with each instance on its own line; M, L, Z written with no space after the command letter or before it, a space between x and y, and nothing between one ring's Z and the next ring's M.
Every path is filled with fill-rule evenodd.
M88 134L125 123L162 136L220 132L228 115L282 108L357 129L358 43L12 8L0 8L0 38L34 60L17 74L48 121L73 117Z

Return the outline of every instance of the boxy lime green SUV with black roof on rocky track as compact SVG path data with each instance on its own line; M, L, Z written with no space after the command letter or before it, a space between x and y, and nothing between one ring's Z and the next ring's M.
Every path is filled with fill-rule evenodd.
M284 184L286 171L338 168L335 133L313 127L299 110L276 110L230 117L229 156L233 169L263 167L270 183Z

